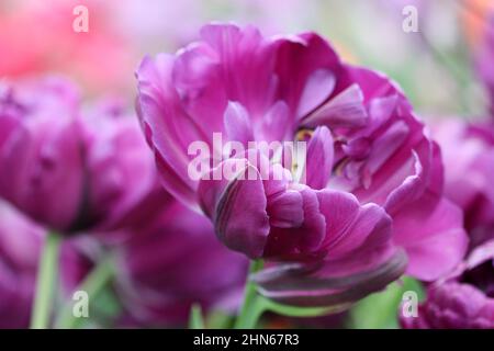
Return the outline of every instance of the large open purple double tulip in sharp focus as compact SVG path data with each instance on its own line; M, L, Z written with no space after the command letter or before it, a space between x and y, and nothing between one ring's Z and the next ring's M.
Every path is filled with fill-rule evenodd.
M266 296L348 306L463 256L439 148L393 82L321 36L206 25L176 55L145 58L137 79L165 188L228 248L271 262L254 278Z

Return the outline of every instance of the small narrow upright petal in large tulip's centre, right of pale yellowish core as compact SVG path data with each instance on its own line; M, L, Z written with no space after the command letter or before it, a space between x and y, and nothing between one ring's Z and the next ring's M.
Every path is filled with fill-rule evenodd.
M325 126L317 127L307 146L305 183L312 189L323 189L333 170L333 137Z

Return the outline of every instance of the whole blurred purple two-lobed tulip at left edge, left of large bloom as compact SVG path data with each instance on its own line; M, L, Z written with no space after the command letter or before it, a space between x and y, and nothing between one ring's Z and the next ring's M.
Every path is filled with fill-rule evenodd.
M65 234L114 228L156 207L143 206L157 202L158 180L136 118L115 107L82 113L59 79L0 91L1 197Z

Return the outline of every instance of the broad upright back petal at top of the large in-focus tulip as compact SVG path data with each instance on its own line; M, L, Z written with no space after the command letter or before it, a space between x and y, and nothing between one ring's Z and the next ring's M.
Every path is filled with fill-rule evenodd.
M227 100L242 103L252 118L260 118L274 97L274 45L254 26L239 29L231 24L205 25L201 29L201 38L214 50L220 65L212 71L206 89L201 90L198 107L213 100L220 105L221 98L216 95L221 92ZM190 73L187 70L182 75ZM207 98L210 95L214 99ZM214 118L216 110L202 109L206 116L213 112L211 117ZM198 114L198 118L204 118L204 114Z

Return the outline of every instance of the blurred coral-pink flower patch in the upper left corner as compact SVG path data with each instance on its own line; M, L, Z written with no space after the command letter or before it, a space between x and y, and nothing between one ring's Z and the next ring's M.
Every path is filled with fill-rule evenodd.
M0 12L0 76L24 78L57 71L77 79L88 91L122 90L132 76L136 54L112 29L113 9L86 0L89 32L72 30L79 1L12 1Z

